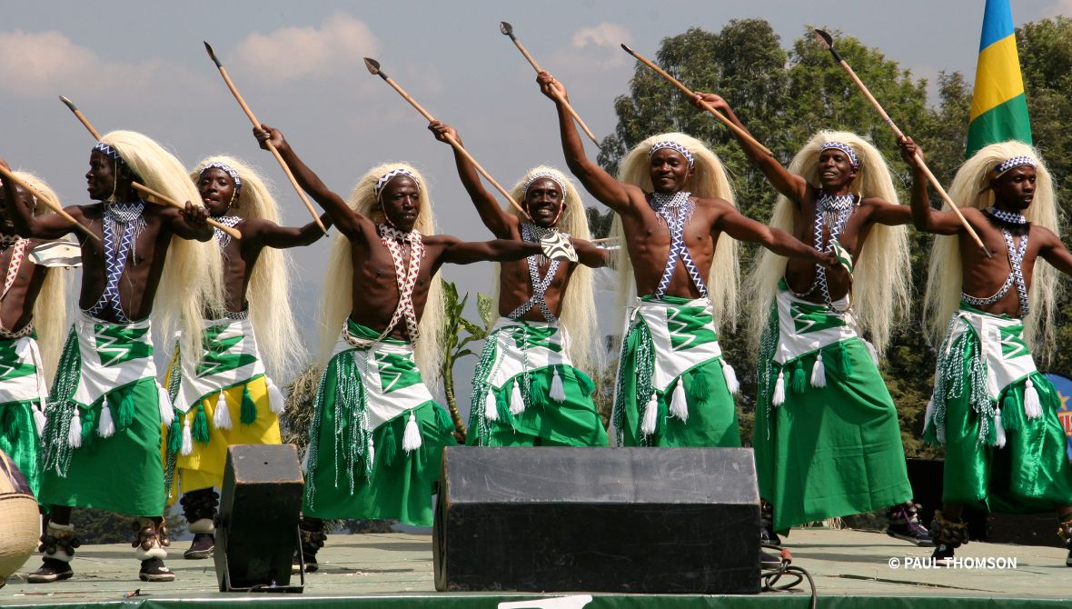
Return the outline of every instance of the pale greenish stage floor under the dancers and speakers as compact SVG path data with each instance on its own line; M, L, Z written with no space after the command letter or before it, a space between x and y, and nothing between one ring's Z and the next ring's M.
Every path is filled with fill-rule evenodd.
M0 590L0 606L68 604L83 605L99 601L122 601L124 593L140 590L132 601L150 600L150 605L170 606L170 599L198 600L214 604L223 598L237 599L240 595L217 593L213 562L185 561L181 558L188 541L173 546L173 558L167 565L176 574L173 583L146 583L138 581L138 563L125 545L83 546L75 561L75 577L54 584L28 584L26 574L36 568L40 558L34 555L19 571L8 579ZM999 598L1002 607L1046 606L1060 598L1072 598L1072 568L1064 566L1067 552L1058 548L1011 546L971 543L957 552L958 556L983 559L1015 559L1016 568L906 568L906 558L926 558L930 550L892 539L884 534L864 531L794 530L786 539L792 552L793 564L806 568L815 578L819 606L849 607L874 605L877 597L895 600L896 606L907 606L907 597L915 597L910 605L937 606L935 597L964 597L978 604L979 597ZM346 605L369 607L405 607L433 601L430 606L495 607L494 600L508 593L438 594L432 582L432 548L430 535L389 533L378 535L331 535L321 551L321 569L307 576L304 595L270 596L273 604L297 607L323 601L339 606L340 596ZM891 559L897 559L898 568L891 568ZM792 594L793 606L806 607L803 598L806 582L798 586L800 594ZM211 593L211 594L206 594ZM432 594L428 594L432 593ZM412 596L411 596L412 595ZM266 595L255 595L266 598ZM364 596L364 599L353 598ZM402 596L402 598L400 598ZM406 603L405 596L408 596ZM611 595L597 597L589 609L598 607L646 605L642 598L660 599L651 606L755 606L780 605L775 600L786 594L764 593L755 596L724 597L641 597ZM857 598L853 603L849 597ZM385 598L393 597L393 598ZM446 603L452 597L456 603ZM532 594L515 599L532 597ZM771 597L768 599L768 597ZM825 597L825 600L824 600ZM839 597L838 599L831 597ZM418 598L420 600L418 600ZM627 601L631 599L634 601ZM969 600L970 599L970 600ZM1014 599L1028 599L1017 603ZM393 600L393 601L392 601ZM972 600L974 603L972 603ZM1030 603L1034 600L1037 603ZM1067 606L1067 600L1064 601ZM883 603L883 606L891 606ZM978 606L978 605L977 605ZM1057 606L1054 603L1054 606ZM308 609L304 608L304 609Z

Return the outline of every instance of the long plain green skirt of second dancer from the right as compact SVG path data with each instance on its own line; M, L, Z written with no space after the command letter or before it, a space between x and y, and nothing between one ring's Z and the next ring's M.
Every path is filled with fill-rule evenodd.
M860 339L849 339L822 353L825 387L808 381L818 354L813 352L784 367L787 380L801 368L803 392L787 382L785 403L769 409L770 396L761 391L756 407L759 494L773 504L779 534L912 499L897 409L870 352ZM849 374L843 357L849 358ZM769 386L778 375L772 368Z

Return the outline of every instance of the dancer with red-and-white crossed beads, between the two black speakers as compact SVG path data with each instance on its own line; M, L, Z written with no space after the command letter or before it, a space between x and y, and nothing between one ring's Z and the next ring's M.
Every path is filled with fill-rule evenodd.
M326 537L321 519L432 524L443 447L455 443L450 416L426 386L438 380L443 350L440 266L520 261L542 249L435 235L426 182L404 164L373 168L343 202L279 131L262 128L254 132L262 147L271 142L339 228L321 311L319 355L327 368L304 466L301 551L315 570Z

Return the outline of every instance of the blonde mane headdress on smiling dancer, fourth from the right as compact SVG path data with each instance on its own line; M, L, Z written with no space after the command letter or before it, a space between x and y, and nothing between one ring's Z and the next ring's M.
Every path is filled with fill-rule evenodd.
M589 233L589 217L584 211L584 203L581 200L580 191L565 174L554 167L540 165L528 170L522 176L518 183L510 191L513 200L524 202L525 190L533 181L539 178L554 180L563 189L562 212L554 226L563 233L568 233L577 239L586 241L592 239ZM505 207L507 211L517 216L522 224L531 222L530 219L517 210L512 205ZM492 298L497 303L500 295L500 277L502 266L495 263L494 287ZM595 289L593 287L594 276L592 269L584 265L577 265L569 277L569 284L562 301L562 316L559 321L566 329L569 337L567 353L574 366L587 371L590 374L597 371L602 358L602 350L597 348L599 341L599 327L596 321Z

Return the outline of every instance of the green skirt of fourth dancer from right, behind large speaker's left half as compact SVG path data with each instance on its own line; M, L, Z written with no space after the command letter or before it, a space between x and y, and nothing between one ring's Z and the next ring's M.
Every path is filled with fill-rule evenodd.
M602 419L596 412L596 406L592 402L582 383L580 373L571 366L559 367L560 377L566 391L566 399L556 402L547 398L551 393L551 382L554 378L554 368L538 368L528 373L532 383L531 395L545 397L542 404L530 405L518 415L511 415L509 419L505 417L497 421L488 421L490 431L481 436L479 425L474 413L470 415L470 431L465 439L465 444L470 446L607 446L607 430L604 429ZM515 376L519 383L522 382L520 374ZM491 388L496 402L508 404L510 392L513 387L513 380L508 381L502 388ZM480 406L482 404L476 404ZM508 410L498 409L501 414L508 414ZM512 425L511 425L512 422Z

